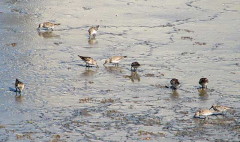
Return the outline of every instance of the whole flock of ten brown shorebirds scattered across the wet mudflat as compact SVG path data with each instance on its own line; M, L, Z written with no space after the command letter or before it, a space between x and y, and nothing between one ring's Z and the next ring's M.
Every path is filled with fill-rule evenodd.
M51 22L44 22L44 23L39 24L38 30L43 30L43 31L51 30L51 31L53 31L53 29L56 25L60 25L60 24L59 23L55 24L55 23L51 23ZM96 27L91 27L88 30L90 39L96 37L98 28L99 28L99 25L96 26ZM78 56L86 63L86 67L96 66L96 68L99 68L99 66L97 64L97 61L94 60L92 57L84 57L84 56L80 56L80 55L78 55ZM112 64L115 64L115 66L118 66L119 62L126 57L127 56L113 56L113 57L110 57L110 58L105 60L103 65L105 65L107 63L112 63ZM131 71L136 72L138 67L140 67L140 64L138 62L133 62L131 64ZM199 84L201 85L201 89L207 89L208 82L209 81L208 81L207 78L201 78L199 80ZM179 83L178 79L176 79L176 78L173 78L170 81L170 84L171 84L171 88L173 90L176 90L180 87L180 83ZM16 88L16 95L17 95L17 93L19 93L20 96L21 96L21 92L24 89L24 83L19 81L18 79L16 79L15 88ZM210 115L224 115L225 112L227 112L229 110L231 110L231 108L227 107L227 106L212 105L210 109L201 109L201 110L197 111L195 113L194 117L195 118L206 119Z

